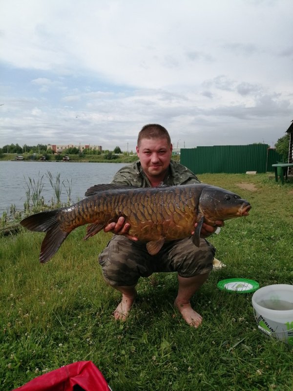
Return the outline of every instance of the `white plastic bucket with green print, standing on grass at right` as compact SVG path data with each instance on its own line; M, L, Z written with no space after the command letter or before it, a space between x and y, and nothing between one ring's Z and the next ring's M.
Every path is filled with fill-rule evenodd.
M258 289L252 295L252 306L260 331L293 346L293 285Z

